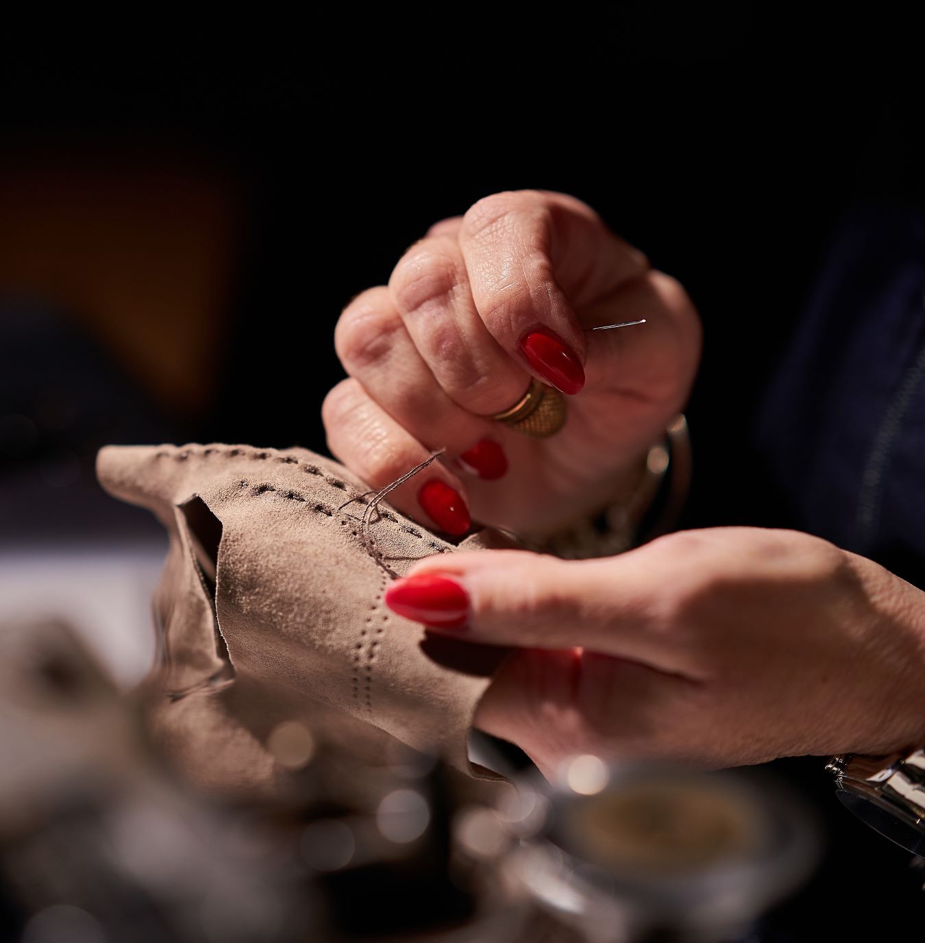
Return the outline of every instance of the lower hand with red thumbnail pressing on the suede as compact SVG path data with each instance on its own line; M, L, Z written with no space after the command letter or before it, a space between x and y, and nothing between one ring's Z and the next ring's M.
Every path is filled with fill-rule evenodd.
M514 651L476 725L548 771L573 753L705 767L925 744L925 593L793 531L716 528L617 557L431 557L388 590Z

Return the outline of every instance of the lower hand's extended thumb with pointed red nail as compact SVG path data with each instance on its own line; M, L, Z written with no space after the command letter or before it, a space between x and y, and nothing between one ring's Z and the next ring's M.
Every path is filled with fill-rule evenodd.
M669 631L676 614L660 590L672 574L656 572L643 551L580 561L521 551L453 554L417 564L385 601L399 615L475 642L582 648L698 677L691 639Z

